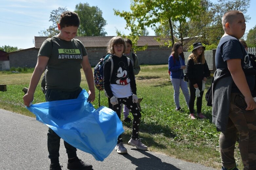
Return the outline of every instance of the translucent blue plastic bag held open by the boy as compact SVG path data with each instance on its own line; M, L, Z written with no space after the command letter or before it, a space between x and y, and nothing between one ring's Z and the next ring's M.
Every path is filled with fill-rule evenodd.
M87 99L83 89L77 99L32 104L27 109L64 141L103 161L124 132L123 125L116 112L105 106L95 109Z

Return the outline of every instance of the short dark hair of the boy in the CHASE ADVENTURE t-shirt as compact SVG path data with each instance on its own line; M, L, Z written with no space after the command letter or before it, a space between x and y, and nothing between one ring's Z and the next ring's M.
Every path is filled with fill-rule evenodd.
M77 26L80 25L80 19L77 13L72 11L64 11L59 20L60 28L65 28L67 26Z

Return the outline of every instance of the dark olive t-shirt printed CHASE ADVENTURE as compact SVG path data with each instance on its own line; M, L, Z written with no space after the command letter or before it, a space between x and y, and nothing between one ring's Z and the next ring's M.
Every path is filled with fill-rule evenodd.
M65 41L54 36L46 39L38 57L47 56L46 89L75 91L81 83L81 62L87 52L81 41Z

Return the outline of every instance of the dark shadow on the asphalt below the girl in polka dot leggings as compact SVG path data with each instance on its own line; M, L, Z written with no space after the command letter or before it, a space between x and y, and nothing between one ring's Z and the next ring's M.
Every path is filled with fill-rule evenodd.
M143 158L135 158L129 154L124 154L123 156L131 161L132 164L136 165L136 170L146 170L146 169L161 169L161 170L180 170L172 164L162 162L162 160L147 151L137 150L145 155Z

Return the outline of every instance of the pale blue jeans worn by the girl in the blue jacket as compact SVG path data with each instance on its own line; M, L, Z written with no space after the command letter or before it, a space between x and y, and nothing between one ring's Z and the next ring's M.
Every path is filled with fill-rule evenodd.
M183 79L171 79L171 83L174 89L174 102L176 105L176 108L178 109L180 107L180 88L182 90L182 93L185 97L186 103L187 103L187 107L188 107L188 102L190 99L189 96L189 92L188 92L188 88L187 88L187 82L184 82Z

